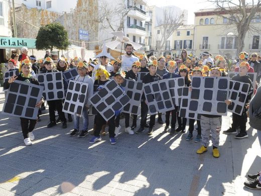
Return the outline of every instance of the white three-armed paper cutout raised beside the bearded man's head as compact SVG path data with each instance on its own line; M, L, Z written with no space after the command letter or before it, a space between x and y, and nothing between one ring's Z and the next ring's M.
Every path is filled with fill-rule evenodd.
M115 49L119 44L121 44L121 46L122 46L124 43L132 44L135 50L138 50L139 48L142 47L141 44L129 41L128 37L123 36L123 31L115 31L115 32L110 32L110 33L117 37L116 40L106 43L106 46L110 49Z

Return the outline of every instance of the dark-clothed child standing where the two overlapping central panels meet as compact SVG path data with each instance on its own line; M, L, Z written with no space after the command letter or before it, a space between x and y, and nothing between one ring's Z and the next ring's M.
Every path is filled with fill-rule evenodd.
M169 61L167 64L167 68L169 70L169 73L166 73L163 75L163 79L169 79L169 78L175 78L175 77L180 77L179 74L175 73L175 69L176 69L176 62L175 61ZM175 125L176 125L176 121L177 121L177 106L175 106L174 110L170 110L166 112L166 126L164 129L164 132L167 133L169 130L169 125L170 125L170 113L172 114L171 116L171 133L175 133Z

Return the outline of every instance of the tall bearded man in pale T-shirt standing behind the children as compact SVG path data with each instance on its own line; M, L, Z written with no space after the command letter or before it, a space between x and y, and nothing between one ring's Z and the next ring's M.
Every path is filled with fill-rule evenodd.
M129 71L132 69L134 62L139 61L139 58L133 55L133 45L126 44L125 46L126 54L121 55L121 70Z

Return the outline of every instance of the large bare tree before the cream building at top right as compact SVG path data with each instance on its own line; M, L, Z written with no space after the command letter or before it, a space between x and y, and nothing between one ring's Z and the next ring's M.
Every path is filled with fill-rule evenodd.
M216 6L217 15L228 21L230 27L236 27L237 30L237 54L244 48L244 39L246 33L258 32L251 24L251 21L256 18L257 13L261 10L261 0L252 0L251 3L246 3L245 0L208 0Z

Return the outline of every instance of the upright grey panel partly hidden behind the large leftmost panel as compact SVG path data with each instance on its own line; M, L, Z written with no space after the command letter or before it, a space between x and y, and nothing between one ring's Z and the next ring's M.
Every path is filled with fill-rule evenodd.
M39 73L36 78L44 87L43 96L46 101L64 99L62 72Z

